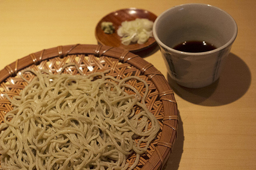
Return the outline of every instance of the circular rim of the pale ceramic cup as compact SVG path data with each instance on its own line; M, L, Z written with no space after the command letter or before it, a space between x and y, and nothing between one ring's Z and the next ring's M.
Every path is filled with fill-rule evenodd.
M189 5L210 6L210 7L212 7L212 8L216 8L217 10L222 11L222 12L225 13L227 16L229 16L229 17L230 17L230 20L234 23L234 26L235 26L234 35L232 36L232 38L230 38L230 40L229 40L227 43L225 43L224 45L222 45L222 46L220 46L220 47L218 47L218 48L216 48L216 49L213 49L213 50L211 50L211 51L206 51L206 52L198 52L198 53L191 53L191 52L178 51L178 50L176 50L176 49L173 49L173 48L168 47L167 45L165 45L165 44L158 38L158 36L157 36L157 34L156 34L156 24L157 24L159 18L161 18L165 13L167 13L167 12L170 11L170 10L173 10L174 8L179 8L179 7L181 7L181 6L189 6ZM231 44L234 42L234 40L236 39L237 32L238 32L238 27L237 27L236 21L234 20L234 18L233 18L230 14L228 14L226 11L224 11L224 10L222 10L222 9L216 7L216 6L212 6L212 5L210 5L210 4L202 4L202 3L188 3L188 4L181 4L181 5L173 6L172 8L169 8L168 10L165 10L164 12L162 12L162 14L160 14L160 15L156 18L156 20L155 20L155 22L154 22L154 24L153 24L153 29L152 29L152 31L153 31L153 36L154 36L156 42L157 42L160 46L164 47L165 49L168 49L169 51L172 51L172 52L177 53L177 54L194 55L194 56L196 57L196 56L200 56L200 55L206 55L206 54L218 52L218 51L220 51L220 50L222 50L222 49L228 47L229 45L231 45Z

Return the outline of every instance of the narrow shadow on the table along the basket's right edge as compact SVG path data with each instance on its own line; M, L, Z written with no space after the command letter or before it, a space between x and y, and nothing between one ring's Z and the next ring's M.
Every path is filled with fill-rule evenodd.
M181 156L183 153L183 145L184 145L184 130L183 130L183 123L180 118L180 112L178 111L179 115L179 125L177 130L177 138L175 140L172 153L170 157L166 161L163 170L178 170L180 165Z

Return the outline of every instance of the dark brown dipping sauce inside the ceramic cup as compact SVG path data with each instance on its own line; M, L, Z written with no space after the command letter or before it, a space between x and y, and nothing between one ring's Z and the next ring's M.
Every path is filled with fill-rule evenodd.
M173 49L189 53L201 53L216 49L216 47L205 41L188 41L176 45Z

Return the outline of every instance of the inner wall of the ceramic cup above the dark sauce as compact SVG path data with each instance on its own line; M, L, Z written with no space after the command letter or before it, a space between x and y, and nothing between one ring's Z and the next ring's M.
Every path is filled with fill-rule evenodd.
M235 40L237 26L234 19L219 8L184 4L158 16L153 34L160 45L170 48L185 41L206 41L219 48Z

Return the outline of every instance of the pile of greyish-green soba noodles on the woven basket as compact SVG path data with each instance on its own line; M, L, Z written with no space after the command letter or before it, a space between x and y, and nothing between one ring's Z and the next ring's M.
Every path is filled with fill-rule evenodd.
M2 169L127 169L132 153L129 169L138 164L160 128L145 106L144 80L30 71L32 82L19 96L7 96L14 109L0 125ZM126 83L130 79L145 84L144 97Z

